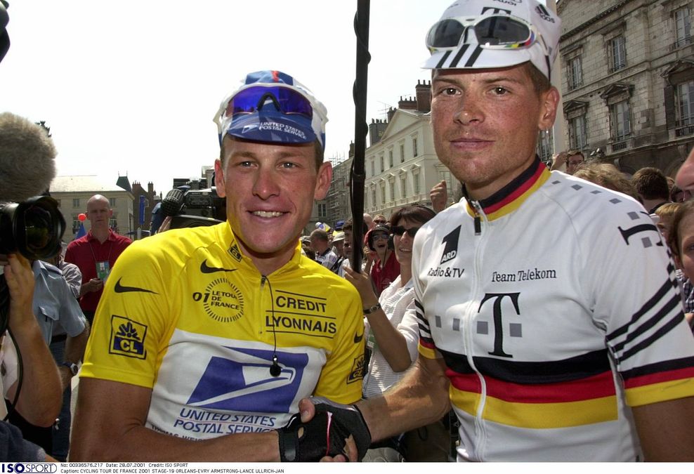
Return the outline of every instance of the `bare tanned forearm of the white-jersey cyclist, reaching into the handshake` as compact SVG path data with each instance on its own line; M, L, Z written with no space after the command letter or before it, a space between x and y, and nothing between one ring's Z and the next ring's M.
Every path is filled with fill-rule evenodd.
M440 369L426 367L438 362L428 360L423 363L421 360L419 357L405 377L383 397L369 398L357 404L369 426L372 440L384 440L426 426L450 410L448 379Z

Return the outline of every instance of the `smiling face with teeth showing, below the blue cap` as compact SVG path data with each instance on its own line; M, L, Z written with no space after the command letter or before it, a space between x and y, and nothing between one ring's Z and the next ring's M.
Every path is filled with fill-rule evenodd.
M313 144L279 145L224 138L216 160L217 192L244 254L263 275L287 263L332 178L329 162L316 170Z

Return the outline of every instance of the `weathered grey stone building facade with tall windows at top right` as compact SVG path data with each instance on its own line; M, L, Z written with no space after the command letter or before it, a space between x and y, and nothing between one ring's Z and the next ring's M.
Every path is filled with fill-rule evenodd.
M694 145L690 0L562 0L568 147L674 176Z

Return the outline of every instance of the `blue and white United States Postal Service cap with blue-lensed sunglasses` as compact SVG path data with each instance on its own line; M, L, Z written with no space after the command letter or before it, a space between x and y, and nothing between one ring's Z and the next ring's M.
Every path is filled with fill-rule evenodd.
M214 117L225 134L265 143L313 143L325 150L325 105L306 86L280 71L248 74Z

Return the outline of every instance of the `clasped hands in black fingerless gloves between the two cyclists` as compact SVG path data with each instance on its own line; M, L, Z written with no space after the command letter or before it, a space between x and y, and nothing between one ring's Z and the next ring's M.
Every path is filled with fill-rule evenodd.
M282 462L320 461L325 456L342 454L348 459L346 440L350 435L361 461L371 444L371 433L364 417L355 405L343 405L322 397L310 399L315 416L306 423L295 414L287 426L278 431Z

